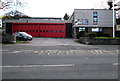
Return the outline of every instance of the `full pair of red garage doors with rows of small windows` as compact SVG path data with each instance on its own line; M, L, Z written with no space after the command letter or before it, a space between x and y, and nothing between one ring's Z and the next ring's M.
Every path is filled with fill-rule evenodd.
M33 37L65 37L65 23L13 23L12 33L26 32Z

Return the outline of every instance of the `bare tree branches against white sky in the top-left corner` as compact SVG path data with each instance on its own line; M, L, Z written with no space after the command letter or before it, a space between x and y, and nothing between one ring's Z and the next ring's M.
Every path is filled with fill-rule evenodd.
M23 7L26 4L23 0L0 0L0 10L13 7Z

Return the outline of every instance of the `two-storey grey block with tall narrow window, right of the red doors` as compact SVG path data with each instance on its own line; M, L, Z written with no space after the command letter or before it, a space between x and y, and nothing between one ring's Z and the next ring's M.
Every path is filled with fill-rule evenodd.
M115 13L115 12L114 12ZM75 35L80 31L104 32L112 36L113 11L107 9L75 9L70 17ZM116 15L115 15L116 24Z

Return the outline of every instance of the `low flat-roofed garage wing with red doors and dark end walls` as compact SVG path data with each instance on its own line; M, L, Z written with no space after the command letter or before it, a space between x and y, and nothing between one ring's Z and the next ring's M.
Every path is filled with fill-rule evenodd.
M26 32L33 37L72 37L72 22L61 18L20 18L4 22L9 34Z

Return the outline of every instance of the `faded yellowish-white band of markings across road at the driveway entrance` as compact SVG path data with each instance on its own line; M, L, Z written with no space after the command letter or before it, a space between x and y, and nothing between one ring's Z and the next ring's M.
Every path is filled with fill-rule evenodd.
M0 52L8 52L9 50L0 50ZM119 50L14 50L12 52L9 52L11 54L17 54L17 53L34 53L34 54L80 54L80 53L93 53L93 54L118 54Z

